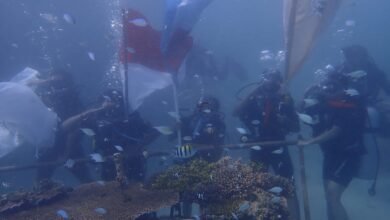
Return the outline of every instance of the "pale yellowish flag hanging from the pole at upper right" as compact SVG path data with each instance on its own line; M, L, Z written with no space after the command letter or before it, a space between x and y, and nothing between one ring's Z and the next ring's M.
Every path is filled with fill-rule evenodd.
M300 69L318 35L339 8L342 0L284 0L286 80Z

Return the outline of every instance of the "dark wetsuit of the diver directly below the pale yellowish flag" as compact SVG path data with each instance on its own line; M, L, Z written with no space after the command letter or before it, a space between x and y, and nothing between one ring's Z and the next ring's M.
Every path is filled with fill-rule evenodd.
M287 94L257 93L249 97L239 118L250 131L248 142L284 140L289 132L299 130L294 103ZM293 177L291 158L285 146L251 149L250 158L261 163L266 171L272 167L277 175Z

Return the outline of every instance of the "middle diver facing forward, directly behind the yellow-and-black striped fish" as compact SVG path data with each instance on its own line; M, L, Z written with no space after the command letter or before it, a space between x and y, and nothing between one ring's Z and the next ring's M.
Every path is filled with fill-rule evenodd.
M181 119L180 128L182 146L176 149L176 164L187 163L193 159L202 159L207 162L216 162L223 155L225 139L224 115L219 111L220 103L213 96L202 96L193 113ZM198 149L206 147L203 149ZM180 193L180 201L183 203L181 213L180 203L171 207L171 218L175 210L179 215L191 217L192 203L186 201L186 192Z

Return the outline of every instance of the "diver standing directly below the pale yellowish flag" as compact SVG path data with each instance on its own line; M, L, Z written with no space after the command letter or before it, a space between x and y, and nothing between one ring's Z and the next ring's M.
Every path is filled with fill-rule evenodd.
M293 99L289 94L281 92L281 86L281 73L267 69L261 74L259 86L234 109L233 116L238 117L249 130L247 135L241 137L241 142L285 140L288 133L299 131ZM293 164L285 146L252 147L250 159L260 163L265 171L272 168L276 175L293 181ZM289 199L288 207L292 219L299 219L295 195Z

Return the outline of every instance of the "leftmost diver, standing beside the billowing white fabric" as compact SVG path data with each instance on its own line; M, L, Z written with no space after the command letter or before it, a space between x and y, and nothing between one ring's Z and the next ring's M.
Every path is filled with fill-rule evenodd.
M78 128L74 128L72 116L78 114L82 104L76 90L76 86L70 73L63 70L52 71L47 78L41 78L29 86L36 87L35 92L42 102L52 109L60 120L56 131L54 147L41 152L39 162L55 161L62 159L75 159L85 157L81 141L82 134ZM67 121L70 119L69 121ZM37 171L37 180L50 178L55 171L54 166L41 167ZM82 183L91 182L85 163L76 163L70 168L72 174Z

